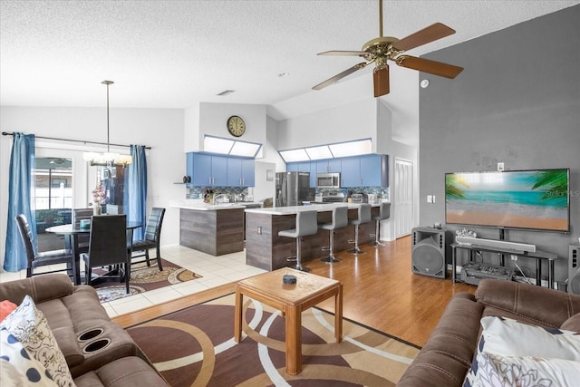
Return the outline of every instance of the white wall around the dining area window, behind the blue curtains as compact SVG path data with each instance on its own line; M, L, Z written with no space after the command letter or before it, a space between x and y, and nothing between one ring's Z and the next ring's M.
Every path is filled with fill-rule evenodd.
M107 140L104 108L0 108L2 131L73 140ZM185 186L173 184L185 174L183 152L184 111L178 109L111 109L111 142L147 145L148 208L167 208L161 234L162 245L179 244L179 211L169 200L184 198ZM38 141L41 141L38 139ZM49 140L42 140L49 143ZM54 146L65 147L63 142ZM60 144L60 145L59 145ZM71 145L68 143L68 147ZM76 144L82 149L82 144ZM8 169L12 136L0 136L0 256L4 261L8 207ZM94 148L88 147L87 148ZM106 148L106 147L103 147ZM124 149L128 152L128 149ZM80 150L77 150L80 151Z

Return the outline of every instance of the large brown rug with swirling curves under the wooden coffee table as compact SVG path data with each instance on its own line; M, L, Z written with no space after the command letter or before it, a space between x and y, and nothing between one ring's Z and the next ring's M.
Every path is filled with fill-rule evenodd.
M245 298L247 299L247 298ZM285 319L254 300L244 305L243 340L234 334L235 295L190 306L127 331L172 387L394 386L419 347L343 320L335 343L333 314L303 313L303 371L285 372Z

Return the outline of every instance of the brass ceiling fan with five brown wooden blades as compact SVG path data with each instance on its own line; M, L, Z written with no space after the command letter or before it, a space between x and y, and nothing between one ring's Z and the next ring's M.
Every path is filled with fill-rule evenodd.
M334 82L343 79L345 76L361 70L371 63L375 63L372 71L372 81L374 84L374 96L380 97L389 93L389 64L392 61L401 67L417 70L423 73L431 73L446 78L455 78L463 67L455 66L448 63L430 61L429 59L418 58L416 56L403 54L412 48L422 44L428 44L438 39L455 34L455 30L445 24L435 23L429 27L423 28L415 34L397 39L392 36L382 36L382 0L379 0L379 37L372 39L362 46L361 51L326 51L318 55L340 55L340 56L360 56L367 62L353 65L353 67L338 73L332 78L313 87L314 90L324 89Z

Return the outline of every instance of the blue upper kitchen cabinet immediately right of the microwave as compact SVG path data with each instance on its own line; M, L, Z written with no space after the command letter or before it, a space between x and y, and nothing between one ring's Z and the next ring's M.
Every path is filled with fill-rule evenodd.
M388 187L389 156L369 154L342 159L341 185L350 187Z

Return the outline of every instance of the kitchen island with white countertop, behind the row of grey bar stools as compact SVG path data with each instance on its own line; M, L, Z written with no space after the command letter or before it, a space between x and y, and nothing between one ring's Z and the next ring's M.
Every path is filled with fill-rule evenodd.
M265 270L275 270L289 266L286 258L296 255L294 238L278 237L278 231L295 228L296 213L300 211L318 211L318 223L327 223L332 219L334 206L348 206L349 218L356 218L358 204L327 203L310 206L290 206L276 208L246 209L246 264ZM372 214L377 214L379 205L372 205ZM359 245L367 254L374 252L374 247L364 246L372 241L369 234L374 233L373 221L359 227ZM334 233L334 251L352 248L348 243L354 238L354 226L338 228ZM324 256L322 247L329 243L329 231L319 229L312 236L304 237L302 243L302 262L308 262Z

